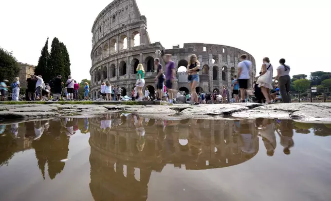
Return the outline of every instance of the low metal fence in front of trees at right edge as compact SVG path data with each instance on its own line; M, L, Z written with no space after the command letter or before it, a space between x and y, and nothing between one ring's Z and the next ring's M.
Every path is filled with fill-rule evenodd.
M316 100L320 100L320 102L327 102L330 101L331 102L331 97L327 97L326 96L326 93L330 93L331 92L331 87L325 87L325 88L318 88L318 89L306 89L306 90L301 90L301 91L290 91L290 95L291 95L291 99L292 99L292 102L293 102L293 98L292 96L295 96L296 97L296 94L298 94L298 102L302 102L305 100L301 100L301 99L306 99L306 101L312 103L312 100L313 99L316 99ZM316 91L316 92L312 92L312 91ZM304 95L303 94L307 94L307 95ZM322 95L318 95L318 94L322 94ZM315 97L314 97L315 95ZM329 95L330 96L330 95ZM294 102L296 102L296 99L297 98L294 98Z

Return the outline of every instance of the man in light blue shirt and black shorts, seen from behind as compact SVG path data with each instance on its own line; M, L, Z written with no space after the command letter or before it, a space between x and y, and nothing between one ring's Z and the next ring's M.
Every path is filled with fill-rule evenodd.
M250 70L252 68L252 62L247 59L246 54L240 56L242 62L238 63L238 83L241 93L242 102L245 103L245 92L249 92L248 79Z

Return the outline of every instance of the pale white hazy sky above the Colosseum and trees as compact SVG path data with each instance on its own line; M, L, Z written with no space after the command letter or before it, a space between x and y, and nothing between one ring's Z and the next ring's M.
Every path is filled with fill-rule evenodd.
M112 1L1 1L0 46L19 62L38 64L47 36L68 49L71 74L90 79L91 27ZM331 71L331 2L328 0L136 0L147 17L151 42L223 44L252 54L256 69L268 56L286 58L291 75ZM167 28L169 26L169 28ZM275 74L275 71L274 71Z

